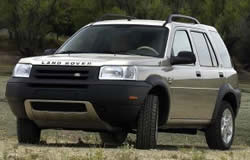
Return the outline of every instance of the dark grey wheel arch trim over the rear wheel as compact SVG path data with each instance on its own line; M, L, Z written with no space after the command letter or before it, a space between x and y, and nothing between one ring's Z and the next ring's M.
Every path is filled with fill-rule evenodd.
M241 93L239 89L234 89L230 84L223 85L218 92L212 122L214 122L217 117L222 101L230 103L235 116L237 116L240 107L240 98Z

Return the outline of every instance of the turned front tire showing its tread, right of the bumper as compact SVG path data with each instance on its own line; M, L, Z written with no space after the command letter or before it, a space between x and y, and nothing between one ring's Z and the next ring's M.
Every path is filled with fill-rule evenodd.
M136 148L153 149L158 138L159 100L148 95L137 121Z

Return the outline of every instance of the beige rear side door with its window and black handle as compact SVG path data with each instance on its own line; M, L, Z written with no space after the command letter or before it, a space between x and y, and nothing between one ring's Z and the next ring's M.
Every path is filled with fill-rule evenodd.
M219 67L218 58L208 34L205 31L191 30L191 37L200 64L201 82L200 118L211 119L219 87L225 81L225 73Z

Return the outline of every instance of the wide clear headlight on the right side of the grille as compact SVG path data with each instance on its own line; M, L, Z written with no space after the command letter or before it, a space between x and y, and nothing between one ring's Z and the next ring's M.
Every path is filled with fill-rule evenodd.
M104 66L99 73L101 80L136 80L136 78L135 66Z

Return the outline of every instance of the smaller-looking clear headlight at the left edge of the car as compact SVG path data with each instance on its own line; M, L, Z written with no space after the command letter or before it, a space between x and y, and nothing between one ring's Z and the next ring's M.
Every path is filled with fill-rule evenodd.
M32 65L31 64L17 64L14 71L13 77L22 77L22 78L29 78L30 71Z

